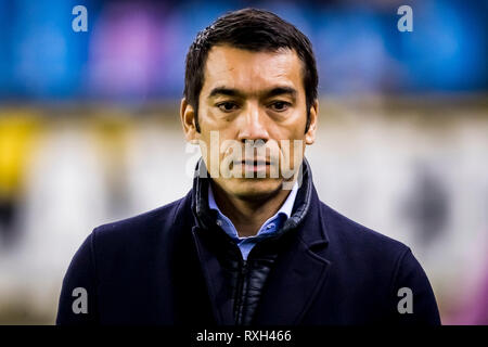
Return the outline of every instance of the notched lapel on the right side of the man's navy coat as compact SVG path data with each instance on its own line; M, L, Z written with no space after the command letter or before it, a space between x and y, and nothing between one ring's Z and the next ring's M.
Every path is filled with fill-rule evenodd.
M314 189L311 204L265 284L255 324L299 324L326 281L331 261L324 253L329 241Z

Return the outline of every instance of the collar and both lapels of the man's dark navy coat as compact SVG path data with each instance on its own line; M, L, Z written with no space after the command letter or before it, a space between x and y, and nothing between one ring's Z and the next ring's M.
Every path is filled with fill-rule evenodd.
M277 259L273 271L267 279L254 317L255 324L298 324L323 286L329 272L331 261L325 258L329 237L322 203L317 195L310 166L305 158L300 172L301 184L292 216L277 234L266 241L272 242L272 239L286 235L284 240L292 242ZM201 159L195 169L191 193L191 206L196 223L192 232L217 323L233 324L222 269L213 256L211 246L204 241L205 235L208 236L209 232L216 230L213 228L215 211L208 208L208 184L209 178ZM223 232L222 234L228 237L227 242L233 244L229 235Z

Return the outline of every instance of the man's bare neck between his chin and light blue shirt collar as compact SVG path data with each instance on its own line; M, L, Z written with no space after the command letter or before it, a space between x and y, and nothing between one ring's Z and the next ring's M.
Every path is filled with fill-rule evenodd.
M219 209L232 221L240 237L256 235L259 228L280 209L291 192L280 188L262 198L246 200L227 194L215 182L211 188Z

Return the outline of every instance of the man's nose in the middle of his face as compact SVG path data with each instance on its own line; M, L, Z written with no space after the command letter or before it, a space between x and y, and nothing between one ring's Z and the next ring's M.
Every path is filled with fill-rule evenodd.
M240 115L241 121L239 127L237 139L245 143L246 140L258 141L262 140L265 143L269 140L267 130L267 115L261 112L258 105L252 104Z

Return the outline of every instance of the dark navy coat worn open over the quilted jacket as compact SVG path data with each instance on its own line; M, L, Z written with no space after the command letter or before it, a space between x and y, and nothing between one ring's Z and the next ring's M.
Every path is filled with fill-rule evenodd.
M95 228L65 274L56 323L233 324L222 268L203 241L223 232L198 218L204 182L196 177L183 198ZM253 324L440 324L411 249L322 203L311 172L288 220Z

